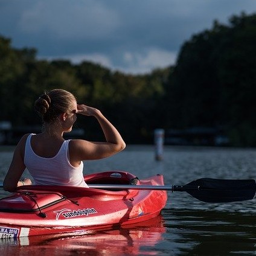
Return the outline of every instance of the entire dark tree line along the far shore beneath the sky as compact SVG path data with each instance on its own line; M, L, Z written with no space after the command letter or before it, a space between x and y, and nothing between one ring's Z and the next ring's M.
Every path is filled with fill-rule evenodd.
M39 60L0 36L0 121L40 125L34 100L62 88L79 103L101 109L127 143L152 143L156 128L217 127L231 146L256 146L256 14L234 15L184 42L176 65L132 75L82 62ZM93 120L78 118L86 138L101 136Z

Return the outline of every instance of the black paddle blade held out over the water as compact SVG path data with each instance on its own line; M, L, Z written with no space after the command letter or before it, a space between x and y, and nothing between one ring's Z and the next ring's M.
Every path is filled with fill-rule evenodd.
M187 191L196 199L208 203L251 200L255 196L255 190L254 179L202 178L182 186L182 191Z

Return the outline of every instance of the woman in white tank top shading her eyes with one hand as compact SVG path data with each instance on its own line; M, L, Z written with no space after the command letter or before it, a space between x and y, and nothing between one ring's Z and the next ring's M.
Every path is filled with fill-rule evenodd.
M126 147L120 133L100 110L77 104L68 91L54 89L45 93L34 107L42 117L42 133L26 134L19 141L4 179L6 191L31 184L30 179L19 181L25 168L36 185L88 187L83 179L83 161L106 158ZM63 133L71 132L77 114L95 117L106 141L65 140Z

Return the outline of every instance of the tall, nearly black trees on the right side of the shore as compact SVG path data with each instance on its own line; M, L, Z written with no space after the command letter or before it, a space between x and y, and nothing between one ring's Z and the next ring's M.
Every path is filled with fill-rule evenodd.
M176 126L223 127L232 145L256 146L255 43L256 15L245 13L184 43L170 78Z

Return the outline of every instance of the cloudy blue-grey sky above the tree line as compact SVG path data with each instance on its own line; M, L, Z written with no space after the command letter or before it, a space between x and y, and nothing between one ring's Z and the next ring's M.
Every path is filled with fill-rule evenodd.
M252 0L2 0L0 34L38 57L91 60L113 70L173 65L185 40L214 19L256 11Z

